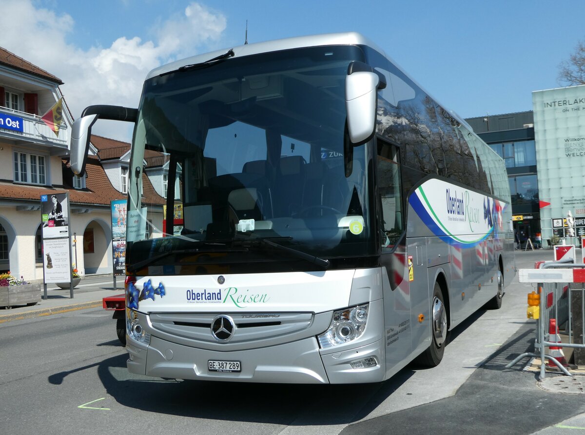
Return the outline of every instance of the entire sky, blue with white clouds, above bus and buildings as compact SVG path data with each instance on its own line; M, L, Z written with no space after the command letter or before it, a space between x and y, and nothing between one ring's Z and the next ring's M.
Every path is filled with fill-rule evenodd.
M583 0L0 0L0 46L61 78L74 117L136 107L148 70L214 49L357 31L462 117L532 109L585 40ZM8 16L8 20L6 17ZM26 31L24 30L26 29ZM99 123L98 123L99 124ZM129 140L105 123L95 131Z

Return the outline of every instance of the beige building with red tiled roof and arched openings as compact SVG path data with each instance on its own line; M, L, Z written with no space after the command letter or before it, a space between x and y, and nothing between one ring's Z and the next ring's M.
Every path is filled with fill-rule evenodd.
M110 202L126 198L129 143L92 136L87 173L75 177L68 167L73 117L64 100L59 135L40 119L63 97L60 84L0 48L0 271L25 280L43 279L42 195L69 194L73 263L81 275L112 273ZM146 178L144 196L162 203Z

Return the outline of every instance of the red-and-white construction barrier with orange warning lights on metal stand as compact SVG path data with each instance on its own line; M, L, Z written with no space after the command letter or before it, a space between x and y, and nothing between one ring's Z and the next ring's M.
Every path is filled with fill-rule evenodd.
M512 368L523 358L540 358L540 379L546 376L546 367L557 367L563 374L571 376L563 348L585 348L585 344L573 342L573 318L571 316L571 283L585 283L585 264L573 264L572 259L563 261L537 262L535 269L518 270L519 282L535 283L536 290L528 295L528 318L536 323L535 352L519 355L506 365ZM581 291L581 337L585 337L585 286ZM563 343L558 327L568 331L569 342ZM546 354L546 348L549 348Z

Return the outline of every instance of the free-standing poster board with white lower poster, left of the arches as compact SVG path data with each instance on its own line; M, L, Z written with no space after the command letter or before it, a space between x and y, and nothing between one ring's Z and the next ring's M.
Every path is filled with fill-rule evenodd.
M43 232L43 283L47 299L47 283L69 283L73 299L71 266L71 234L69 194L56 193L40 197Z

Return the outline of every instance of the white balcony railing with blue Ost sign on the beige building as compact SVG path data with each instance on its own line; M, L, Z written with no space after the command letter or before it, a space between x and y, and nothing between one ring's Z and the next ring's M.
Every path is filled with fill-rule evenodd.
M38 115L0 107L0 138L67 149L69 131L67 124L61 122L59 136L56 136Z

